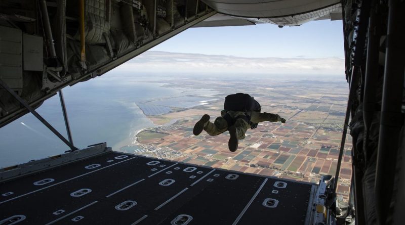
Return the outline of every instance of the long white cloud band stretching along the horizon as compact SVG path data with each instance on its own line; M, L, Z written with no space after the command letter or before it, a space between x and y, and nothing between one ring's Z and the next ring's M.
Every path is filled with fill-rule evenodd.
M244 58L235 56L145 52L116 71L220 74L344 74L341 58Z

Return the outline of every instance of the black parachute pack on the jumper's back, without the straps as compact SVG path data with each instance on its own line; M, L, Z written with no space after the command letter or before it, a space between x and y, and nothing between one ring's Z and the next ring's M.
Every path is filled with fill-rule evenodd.
M260 112L260 104L250 95L244 93L236 93L225 97L224 110L228 111L257 111Z

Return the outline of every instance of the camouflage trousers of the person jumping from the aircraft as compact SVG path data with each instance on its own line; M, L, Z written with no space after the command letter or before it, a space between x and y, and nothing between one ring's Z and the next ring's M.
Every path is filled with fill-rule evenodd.
M243 116L245 115L245 113L231 112L230 115L232 116L232 118L235 118L237 116ZM239 118L235 121L234 126L236 128L236 138L238 140L244 139L246 130L250 128L249 123L246 122L244 119ZM222 116L220 116L215 119L214 123L208 121L207 124L204 126L204 130L207 131L210 136L217 136L218 134L221 134L228 130L228 123Z

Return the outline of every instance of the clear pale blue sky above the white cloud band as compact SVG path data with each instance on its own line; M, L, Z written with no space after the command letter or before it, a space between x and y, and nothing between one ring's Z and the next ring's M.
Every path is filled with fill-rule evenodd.
M190 28L149 51L248 58L344 58L342 21Z

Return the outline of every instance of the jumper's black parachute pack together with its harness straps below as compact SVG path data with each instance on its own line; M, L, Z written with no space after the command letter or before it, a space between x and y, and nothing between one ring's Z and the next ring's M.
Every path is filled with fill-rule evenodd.
M258 123L253 123L252 121L250 121L251 116L248 114L248 111L260 112L261 106L250 95L244 93L236 93L225 97L224 110L226 111L226 115L223 118L226 120L228 127L234 125L237 119L243 119L249 125L251 125L252 129L254 129L257 127ZM239 115L235 118L232 118L228 114L228 111L241 111L245 112L245 115Z

